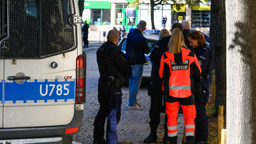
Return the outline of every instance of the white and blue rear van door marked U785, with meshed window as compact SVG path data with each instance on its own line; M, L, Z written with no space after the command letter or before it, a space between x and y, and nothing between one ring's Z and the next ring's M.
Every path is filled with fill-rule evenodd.
M10 45L3 53L3 127L67 125L75 104L73 1L8 2L9 33L1 41Z

